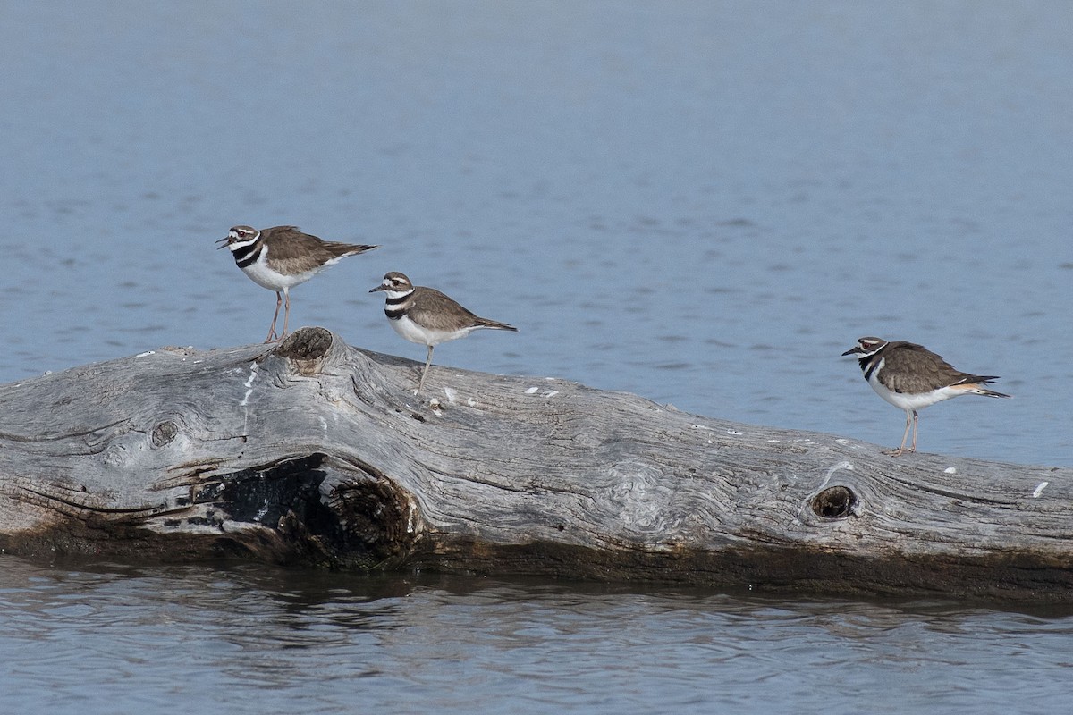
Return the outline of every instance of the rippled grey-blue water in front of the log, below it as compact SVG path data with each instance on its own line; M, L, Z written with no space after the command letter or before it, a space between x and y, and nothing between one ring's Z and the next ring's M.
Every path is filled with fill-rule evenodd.
M1057 713L1073 614L32 566L0 556L4 713Z

